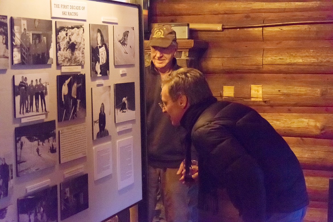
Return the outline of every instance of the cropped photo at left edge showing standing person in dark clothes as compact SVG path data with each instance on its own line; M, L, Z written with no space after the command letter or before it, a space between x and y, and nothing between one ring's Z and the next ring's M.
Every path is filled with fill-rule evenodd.
M13 153L0 153L0 199L13 189Z

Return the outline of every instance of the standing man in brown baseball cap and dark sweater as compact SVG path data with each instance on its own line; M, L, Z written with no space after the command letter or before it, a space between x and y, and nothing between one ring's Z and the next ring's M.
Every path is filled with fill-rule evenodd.
M159 188L167 222L196 221L197 189L181 184L176 174L185 155L182 143L185 131L181 127L172 126L161 109L161 82L172 71L180 68L174 58L178 48L176 32L170 25L158 25L153 28L149 40L152 61L145 70L149 222L155 216ZM188 206L188 203L192 203L192 206Z

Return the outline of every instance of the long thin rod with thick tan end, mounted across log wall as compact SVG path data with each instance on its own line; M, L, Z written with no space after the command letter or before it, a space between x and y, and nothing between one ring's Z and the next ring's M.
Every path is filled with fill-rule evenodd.
M313 25L313 24L331 24L331 23L333 23L333 20L280 22L280 23L269 23L269 24L259 24L259 25L236 25L236 26L223 26L223 24L190 23L189 28L195 31L223 31L225 29L264 28L264 27L276 27L276 26L287 26L287 25Z

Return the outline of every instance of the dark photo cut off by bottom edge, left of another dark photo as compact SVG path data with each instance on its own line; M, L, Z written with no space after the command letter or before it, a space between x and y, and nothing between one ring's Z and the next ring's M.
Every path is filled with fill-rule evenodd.
M58 185L17 199L18 222L57 222Z

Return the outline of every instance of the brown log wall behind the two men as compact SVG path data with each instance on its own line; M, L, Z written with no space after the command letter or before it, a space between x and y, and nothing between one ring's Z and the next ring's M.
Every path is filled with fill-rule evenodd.
M223 26L333 20L331 0L155 0L153 23ZM333 24L190 31L208 42L200 61L213 95L249 105L285 138L304 170L305 221L327 221L333 177ZM253 99L251 85L259 85ZM223 95L233 86L233 96ZM226 204L225 221L237 221ZM233 213L230 213L233 212Z

